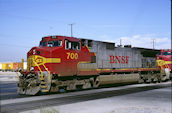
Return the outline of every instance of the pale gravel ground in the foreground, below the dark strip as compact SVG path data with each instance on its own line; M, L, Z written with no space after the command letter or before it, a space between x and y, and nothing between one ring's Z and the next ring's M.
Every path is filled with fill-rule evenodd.
M57 113L171 113L171 87L25 111Z

